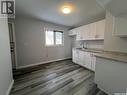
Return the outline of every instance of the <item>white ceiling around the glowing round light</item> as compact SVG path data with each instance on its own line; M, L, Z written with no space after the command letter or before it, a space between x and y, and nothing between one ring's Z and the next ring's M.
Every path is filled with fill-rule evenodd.
M74 7L69 15L60 12L61 6L65 3ZM16 0L16 16L33 17L59 25L78 27L103 19L105 10L96 0Z

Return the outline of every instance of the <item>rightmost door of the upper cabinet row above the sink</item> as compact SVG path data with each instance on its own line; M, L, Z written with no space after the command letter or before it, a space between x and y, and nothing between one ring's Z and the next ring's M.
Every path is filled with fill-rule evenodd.
M96 39L104 39L105 20L96 22Z

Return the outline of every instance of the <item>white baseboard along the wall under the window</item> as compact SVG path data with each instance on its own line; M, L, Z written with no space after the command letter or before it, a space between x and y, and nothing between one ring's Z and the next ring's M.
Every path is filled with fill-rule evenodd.
M30 64L30 65L26 65L26 66L20 66L20 67L17 67L16 69L24 69L24 68L28 68L28 67L32 67L32 66L37 66L37 65L41 65L41 64L46 64L46 63L61 61L61 60L66 60L66 59L71 59L71 57L61 58L61 59L56 59L56 60L50 60L50 61L45 61L45 62L39 62L39 63Z

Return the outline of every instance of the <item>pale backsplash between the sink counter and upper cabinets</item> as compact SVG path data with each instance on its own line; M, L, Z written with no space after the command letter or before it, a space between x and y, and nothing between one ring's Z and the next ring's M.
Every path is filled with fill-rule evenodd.
M104 49L104 41L76 41L75 38L72 38L72 47L73 48L81 48L81 47L87 47L87 48L98 48L98 49Z

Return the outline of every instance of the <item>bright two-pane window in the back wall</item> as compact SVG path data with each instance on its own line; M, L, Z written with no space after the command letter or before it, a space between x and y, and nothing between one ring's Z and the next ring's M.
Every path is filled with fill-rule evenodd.
M45 31L45 44L46 46L63 45L63 32L62 31Z

